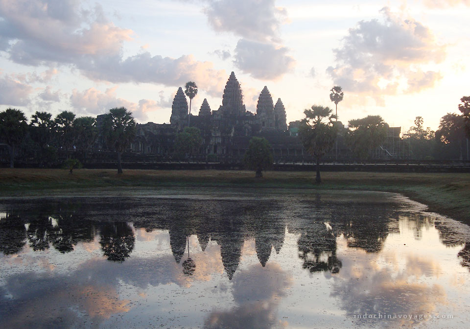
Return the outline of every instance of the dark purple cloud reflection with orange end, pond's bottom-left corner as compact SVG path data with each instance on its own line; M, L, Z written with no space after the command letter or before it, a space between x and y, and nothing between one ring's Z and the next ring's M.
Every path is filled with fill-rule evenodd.
M115 282L28 273L8 278L4 289L11 299L4 294L0 298L2 328L72 328L130 309L129 301L119 298ZM80 318L84 312L86 317Z

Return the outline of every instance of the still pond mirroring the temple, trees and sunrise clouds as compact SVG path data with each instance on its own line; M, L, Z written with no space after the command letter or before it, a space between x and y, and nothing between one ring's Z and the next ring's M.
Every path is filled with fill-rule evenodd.
M0 328L469 328L470 228L398 194L0 200Z

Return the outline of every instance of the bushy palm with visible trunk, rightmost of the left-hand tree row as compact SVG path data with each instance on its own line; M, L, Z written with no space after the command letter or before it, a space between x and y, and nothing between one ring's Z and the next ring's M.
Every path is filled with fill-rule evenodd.
M102 135L108 147L118 154L118 174L122 174L121 153L136 136L136 121L132 112L125 107L109 110L101 126Z

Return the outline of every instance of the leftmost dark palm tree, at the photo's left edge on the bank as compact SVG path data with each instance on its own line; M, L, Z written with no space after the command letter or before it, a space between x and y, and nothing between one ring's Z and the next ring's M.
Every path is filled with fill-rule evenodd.
M0 140L10 146L10 168L13 168L15 145L20 144L26 135L27 120L24 113L17 109L6 109L0 112Z

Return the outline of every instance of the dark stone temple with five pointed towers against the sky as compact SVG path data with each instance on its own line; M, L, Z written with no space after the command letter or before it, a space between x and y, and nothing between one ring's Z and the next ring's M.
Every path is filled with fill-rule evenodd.
M247 111L243 104L241 86L234 72L230 74L225 86L222 105L215 111L211 110L207 99L204 99L199 114L188 115L188 101L180 87L173 99L170 124L139 124L138 136L132 143L131 150L141 155L169 157L173 152L176 134L188 125L201 130L201 157L212 154L214 160L223 157L236 161L243 156L253 136L262 136L270 141L276 156L303 153L302 145L296 138L297 131L288 130L281 98L274 104L265 86L258 97L256 114Z

